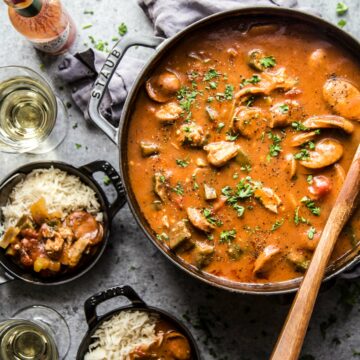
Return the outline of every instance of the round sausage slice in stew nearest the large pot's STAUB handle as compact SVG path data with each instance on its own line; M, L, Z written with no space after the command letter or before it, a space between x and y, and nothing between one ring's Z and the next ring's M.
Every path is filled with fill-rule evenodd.
M145 87L152 100L164 103L169 101L180 90L181 83L175 74L166 71L152 76L146 81Z

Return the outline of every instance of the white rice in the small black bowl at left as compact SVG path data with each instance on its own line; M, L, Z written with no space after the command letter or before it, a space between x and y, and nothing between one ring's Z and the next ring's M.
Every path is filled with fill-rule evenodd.
M21 216L29 215L30 206L41 197L49 212L60 211L66 216L82 209L99 215L100 204L95 192L77 176L51 167L32 171L13 188L6 206L1 207L1 228L6 230L16 225ZM101 221L101 214L97 220Z

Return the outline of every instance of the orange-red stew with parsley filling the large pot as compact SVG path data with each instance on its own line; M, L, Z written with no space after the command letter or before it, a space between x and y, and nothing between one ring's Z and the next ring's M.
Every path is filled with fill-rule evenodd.
M360 66L304 25L205 29L146 82L128 167L137 202L185 262L240 282L301 275L360 140ZM355 213L333 254L354 248Z

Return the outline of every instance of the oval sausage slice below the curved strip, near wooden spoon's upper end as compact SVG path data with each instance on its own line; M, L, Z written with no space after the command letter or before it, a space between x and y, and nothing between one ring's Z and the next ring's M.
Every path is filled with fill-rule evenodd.
M339 141L331 138L316 143L315 149L309 151L309 156L300 160L300 164L309 169L321 169L336 163L343 155L344 148Z

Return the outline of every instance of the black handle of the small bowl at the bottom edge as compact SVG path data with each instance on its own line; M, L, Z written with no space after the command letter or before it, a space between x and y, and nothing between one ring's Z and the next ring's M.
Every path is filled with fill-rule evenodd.
M89 329L93 328L98 322L98 315L96 308L102 302L112 299L117 296L125 296L128 298L134 307L146 307L145 302L139 297L135 290L128 286L117 286L104 291L101 291L85 301L85 317L89 325Z

